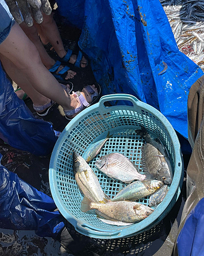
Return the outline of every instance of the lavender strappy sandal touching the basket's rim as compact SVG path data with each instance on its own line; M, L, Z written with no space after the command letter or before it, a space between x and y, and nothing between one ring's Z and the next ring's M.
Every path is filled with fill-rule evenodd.
M90 99L91 99L91 103L88 103L87 100L84 98L84 96L80 93L80 92L73 92L73 96L78 100L78 102L80 103L80 106L76 109L73 110L64 110L65 113L65 118L67 120L72 120L74 117L74 114L79 114L80 112L82 112L84 109L88 108L88 106L94 104L97 102L97 100L100 97L100 86L98 83L94 83L95 88L93 86L86 86L83 88L82 92L86 93L87 95L89 95Z

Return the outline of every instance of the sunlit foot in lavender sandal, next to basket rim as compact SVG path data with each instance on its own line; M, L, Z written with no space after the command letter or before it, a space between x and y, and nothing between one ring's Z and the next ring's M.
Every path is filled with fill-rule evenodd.
M91 91L91 93L89 92ZM81 96L80 96L81 94ZM82 97L83 96L83 97ZM89 90L87 87L83 88L81 93L72 93L70 95L70 110L64 110L65 112L65 118L67 120L71 120L74 118L77 114L79 114L82 110L86 108L92 101L93 97L98 96L97 88L95 87L95 84L92 86L89 86ZM81 97L81 100L80 100ZM77 110L78 109L78 110ZM72 115L69 115L68 113L75 112Z

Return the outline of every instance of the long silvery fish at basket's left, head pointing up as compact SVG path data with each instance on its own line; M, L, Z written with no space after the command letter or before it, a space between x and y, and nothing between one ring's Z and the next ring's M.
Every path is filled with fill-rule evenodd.
M110 198L100 187L97 176L77 152L73 152L73 170L81 194L95 203L106 203Z

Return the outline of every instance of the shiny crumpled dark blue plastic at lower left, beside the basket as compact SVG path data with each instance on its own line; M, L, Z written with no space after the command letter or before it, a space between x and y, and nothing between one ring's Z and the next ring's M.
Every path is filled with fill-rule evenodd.
M56 238L64 223L53 199L11 173L1 159L0 154L0 228L35 230L40 237Z

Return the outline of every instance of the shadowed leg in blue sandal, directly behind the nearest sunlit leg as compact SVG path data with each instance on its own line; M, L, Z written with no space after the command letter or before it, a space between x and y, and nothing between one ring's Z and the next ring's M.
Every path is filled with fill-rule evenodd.
M24 22L22 22L20 24L20 27L24 31L24 33L28 36L28 38L33 42L35 47L37 48L44 66L47 69L52 68L55 65L56 61L48 55L45 48L43 47L42 42L40 41L40 38L38 36L38 31L37 31L36 27L35 26L29 27ZM59 72L63 68L64 68L64 66L61 65L58 68L57 72ZM68 70L65 80L73 78L74 75L76 75L76 74L77 74L76 72L74 72L72 70Z

